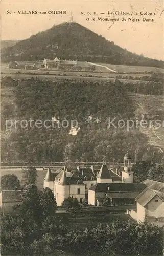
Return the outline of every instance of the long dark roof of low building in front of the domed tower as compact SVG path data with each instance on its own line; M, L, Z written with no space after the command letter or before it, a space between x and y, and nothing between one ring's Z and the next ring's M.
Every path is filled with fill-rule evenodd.
M141 183L97 183L89 188L95 192L128 192L140 193L146 188Z

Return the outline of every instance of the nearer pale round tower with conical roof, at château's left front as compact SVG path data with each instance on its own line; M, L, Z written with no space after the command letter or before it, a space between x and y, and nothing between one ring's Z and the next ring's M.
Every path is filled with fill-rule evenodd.
M67 182L65 169L63 170L63 174L59 183L57 184L56 189L56 202L57 206L61 206L64 199L69 197L69 184Z

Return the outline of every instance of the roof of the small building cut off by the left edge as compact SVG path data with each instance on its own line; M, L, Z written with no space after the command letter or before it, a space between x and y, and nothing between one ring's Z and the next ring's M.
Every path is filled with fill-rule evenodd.
M20 202L22 190L1 190L2 202Z

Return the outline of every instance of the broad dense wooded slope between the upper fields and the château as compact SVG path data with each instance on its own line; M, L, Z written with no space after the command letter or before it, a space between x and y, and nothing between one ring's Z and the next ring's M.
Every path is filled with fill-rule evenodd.
M118 80L8 82L14 87L15 108L10 103L2 108L2 131L5 120L17 123L8 129L8 139L2 139L2 161L122 161L129 148L135 161L147 152L160 162L162 155L149 145L147 136L138 129L127 129L128 119L135 122L135 105ZM115 118L116 127L109 127L109 118ZM120 119L125 127L117 125ZM40 126L34 125L37 120ZM49 121L45 127L45 120L53 120L54 126ZM76 135L72 129L77 129Z

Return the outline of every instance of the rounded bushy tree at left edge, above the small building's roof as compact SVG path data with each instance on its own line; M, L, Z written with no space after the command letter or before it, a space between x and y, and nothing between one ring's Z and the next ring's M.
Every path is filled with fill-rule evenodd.
M20 181L14 174L6 174L1 178L1 189L2 190L14 190L20 189Z

